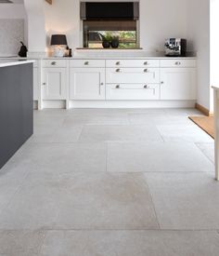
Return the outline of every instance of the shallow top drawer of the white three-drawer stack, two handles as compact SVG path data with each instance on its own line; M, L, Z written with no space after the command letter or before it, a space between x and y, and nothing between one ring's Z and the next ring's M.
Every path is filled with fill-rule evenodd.
M159 60L107 60L106 66L109 68L113 67L154 67L157 68L160 66Z

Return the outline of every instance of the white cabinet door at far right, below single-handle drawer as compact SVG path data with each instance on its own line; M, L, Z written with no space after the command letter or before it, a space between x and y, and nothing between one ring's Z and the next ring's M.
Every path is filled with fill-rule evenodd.
M196 100L196 69L161 68L161 100Z

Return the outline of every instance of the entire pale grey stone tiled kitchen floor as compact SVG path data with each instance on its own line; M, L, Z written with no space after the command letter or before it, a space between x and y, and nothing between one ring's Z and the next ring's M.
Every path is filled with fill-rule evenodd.
M219 255L213 139L188 115L34 112L0 171L0 256Z

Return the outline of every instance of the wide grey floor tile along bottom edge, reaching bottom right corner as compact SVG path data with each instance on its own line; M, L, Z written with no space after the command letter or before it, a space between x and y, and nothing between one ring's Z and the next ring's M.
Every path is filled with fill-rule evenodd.
M49 231L40 256L216 256L216 232Z

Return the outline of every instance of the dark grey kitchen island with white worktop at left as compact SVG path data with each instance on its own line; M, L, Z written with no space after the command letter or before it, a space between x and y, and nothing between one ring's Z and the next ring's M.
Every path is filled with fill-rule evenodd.
M32 64L0 62L0 168L32 136Z

